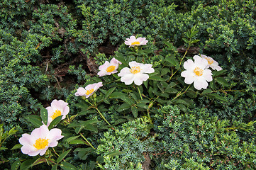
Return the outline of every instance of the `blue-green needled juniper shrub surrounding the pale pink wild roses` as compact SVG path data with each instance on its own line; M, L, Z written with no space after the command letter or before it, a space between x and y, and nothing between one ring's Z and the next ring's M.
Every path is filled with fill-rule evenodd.
M40 107L55 98L67 101L69 114L76 114L72 104L77 102L77 87L94 77L115 51L126 53L123 42L130 35L147 38L155 56L165 47L163 41L172 42L177 55L184 55L187 44L182 38L196 25L200 41L188 56L211 56L226 70L223 84L211 82L211 89L226 99L199 92L192 109L180 111L165 104L155 108L153 126L138 118L121 124L119 132L102 130L89 138L102 156L112 147L127 151L106 156L106 169L145 168L145 159L151 160L150 169L256 169L255 4L255 0L1 1L0 124L4 130L18 127L16 135L4 142L8 149L0 152L1 167L10 169L14 161L26 159L18 149L9 151L21 134L33 129L26 115L38 115ZM122 133L128 134L122 138L126 145L114 142ZM130 147L134 152L128 152ZM87 163L96 156L76 153L70 155L72 163L90 169Z

